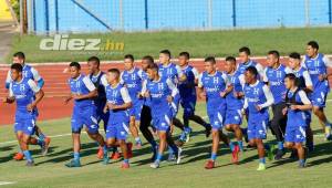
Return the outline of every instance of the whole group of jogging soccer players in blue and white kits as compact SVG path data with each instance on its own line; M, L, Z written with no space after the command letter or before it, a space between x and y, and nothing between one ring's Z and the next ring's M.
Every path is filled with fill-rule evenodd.
M100 146L97 157L103 164L120 158L121 149L122 168L129 168L129 158L133 157L133 144L126 142L127 136L131 133L136 148L141 148L139 130L151 144L152 168L160 166L166 149L168 160L179 164L181 146L190 139L189 121L201 125L206 137L212 137L206 169L216 165L220 139L229 146L232 163L238 164L239 153L245 150L243 138L248 142L247 147L258 150L257 170L266 169L266 155L279 160L286 148L291 152L291 157L299 158L299 167L305 167L308 152L314 150L311 112L323 126L326 140L331 139L331 123L324 107L330 91L328 67L332 62L319 53L315 41L307 44L303 59L293 52L286 64L281 64L278 51L269 51L267 67L250 59L247 46L239 49L240 63L234 56L226 58L225 71L218 70L214 56L205 59L205 71L200 74L189 61L189 53L181 52L175 64L170 52L163 50L158 63L147 55L139 69L134 56L127 54L123 72L117 69L102 72L100 60L92 56L87 60L87 75L81 73L80 63L70 63L70 92L65 104L74 101L71 119L73 159L65 166L81 167L82 128ZM43 84L38 72L24 63L24 54L15 53L6 81L9 96L3 102L17 102L14 132L20 150L14 159L25 158L27 166L34 165L29 145L40 145L43 155L50 145L50 138L35 124L37 105L44 95ZM195 114L197 97L206 100L209 123ZM177 118L179 106L184 109L183 121ZM248 122L246 128L241 127L242 119ZM105 137L100 134L101 122ZM183 130L176 142L172 135L174 127ZM269 127L278 142L277 149L263 143ZM232 132L236 142L231 142L222 129Z

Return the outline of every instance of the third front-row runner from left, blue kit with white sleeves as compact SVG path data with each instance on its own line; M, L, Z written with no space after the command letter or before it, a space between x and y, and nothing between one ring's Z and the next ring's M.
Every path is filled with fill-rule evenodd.
M105 87L107 104L104 112L110 111L110 122L106 129L106 150L103 163L108 164L108 147L120 145L124 161L121 168L129 168L128 148L126 137L128 135L129 114L133 106L128 90L120 83L120 71L111 69L107 73L108 85Z

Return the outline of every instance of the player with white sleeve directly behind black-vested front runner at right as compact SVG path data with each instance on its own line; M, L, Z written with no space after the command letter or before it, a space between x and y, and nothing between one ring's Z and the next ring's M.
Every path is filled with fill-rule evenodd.
M289 67L291 69L290 72L293 73L299 79L299 87L302 88L310 97L310 94L313 91L313 85L308 70L301 65L301 55L299 53L293 52L289 55ZM312 152L314 147L313 147L313 133L310 127L311 112L305 111L305 116L307 116L305 146L308 147L309 152ZM291 155L291 157L293 157L293 155Z

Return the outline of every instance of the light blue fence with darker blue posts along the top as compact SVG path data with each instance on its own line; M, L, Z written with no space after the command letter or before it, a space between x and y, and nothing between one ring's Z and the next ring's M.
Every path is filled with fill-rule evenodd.
M27 0L27 20L34 33L328 25L331 1Z

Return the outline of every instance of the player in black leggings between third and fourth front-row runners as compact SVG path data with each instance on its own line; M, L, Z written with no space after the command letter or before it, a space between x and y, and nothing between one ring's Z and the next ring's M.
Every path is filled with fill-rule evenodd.
M142 80L143 80L143 82L147 82L147 80L148 80L147 69L152 64L154 64L154 59L152 56L146 55L142 59L142 70L143 70ZM145 139L152 146L152 152L153 152L152 161L155 161L157 153L158 153L158 145L155 142L152 130L149 129L149 127L152 127L151 101L149 101L149 97L146 98L146 97L143 97L142 95L141 95L141 97L144 100L144 104L142 107L139 129L143 134L143 136L145 137Z

